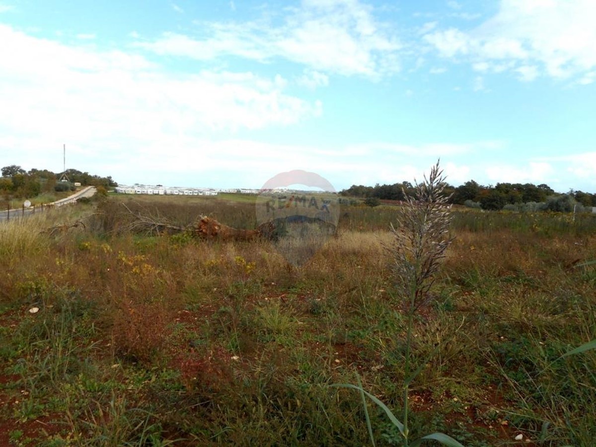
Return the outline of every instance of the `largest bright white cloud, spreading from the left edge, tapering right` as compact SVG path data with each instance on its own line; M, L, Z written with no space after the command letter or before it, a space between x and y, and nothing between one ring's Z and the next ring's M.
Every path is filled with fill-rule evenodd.
M142 156L239 129L297 123L322 112L321 102L285 93L287 80L250 72L172 74L145 58L39 39L0 25L0 151L38 160L40 148ZM4 140L6 141L6 140ZM113 155L117 158L117 155ZM40 163L42 161L39 158Z

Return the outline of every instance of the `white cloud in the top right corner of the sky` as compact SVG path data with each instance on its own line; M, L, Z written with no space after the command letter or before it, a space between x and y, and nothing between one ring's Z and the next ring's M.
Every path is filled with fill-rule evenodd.
M596 67L594 17L593 0L501 0L499 11L478 27L437 30L424 39L442 57L515 70L526 81L541 74L583 76Z

